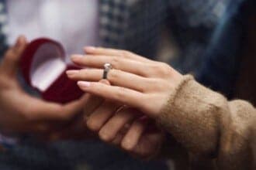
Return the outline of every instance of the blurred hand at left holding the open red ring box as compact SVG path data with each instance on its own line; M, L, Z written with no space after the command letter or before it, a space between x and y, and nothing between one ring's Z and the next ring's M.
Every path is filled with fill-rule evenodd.
M26 44L26 38L20 36L0 64L1 133L47 133L78 114L87 98L61 105L29 96L22 90L17 71L19 56Z

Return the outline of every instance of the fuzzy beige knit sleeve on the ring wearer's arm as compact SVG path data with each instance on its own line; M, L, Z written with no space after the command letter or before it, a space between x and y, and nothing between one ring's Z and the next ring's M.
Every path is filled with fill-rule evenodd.
M157 119L193 155L216 158L220 169L254 169L256 110L184 76ZM255 149L254 149L255 148Z

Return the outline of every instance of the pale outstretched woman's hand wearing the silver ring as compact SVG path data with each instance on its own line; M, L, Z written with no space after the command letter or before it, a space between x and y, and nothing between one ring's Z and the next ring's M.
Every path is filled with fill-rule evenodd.
M72 61L95 69L69 70L67 76L79 80L81 90L137 107L149 117L157 117L167 103L182 75L166 63L156 62L117 49L85 48L86 56L74 55ZM111 63L108 73L112 86L98 83L104 63Z

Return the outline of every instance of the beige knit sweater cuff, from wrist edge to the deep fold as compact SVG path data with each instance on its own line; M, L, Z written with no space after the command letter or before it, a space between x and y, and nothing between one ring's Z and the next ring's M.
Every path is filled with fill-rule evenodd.
M157 123L189 151L209 154L215 151L218 140L216 108L226 103L221 94L187 75L171 91Z

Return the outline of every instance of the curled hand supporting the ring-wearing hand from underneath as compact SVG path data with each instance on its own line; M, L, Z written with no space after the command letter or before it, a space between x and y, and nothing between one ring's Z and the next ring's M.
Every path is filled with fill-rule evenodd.
M108 84L106 80L101 83ZM87 115L87 127L99 134L102 141L116 145L131 155L150 158L163 144L164 132L139 110L106 100Z

